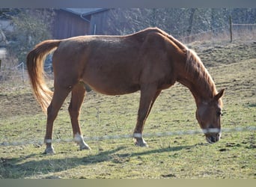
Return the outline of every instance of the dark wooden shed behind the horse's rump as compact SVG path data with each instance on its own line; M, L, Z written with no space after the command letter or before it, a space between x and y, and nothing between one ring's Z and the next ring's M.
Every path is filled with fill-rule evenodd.
M63 8L55 11L53 37L63 39L80 35L104 34L107 8Z

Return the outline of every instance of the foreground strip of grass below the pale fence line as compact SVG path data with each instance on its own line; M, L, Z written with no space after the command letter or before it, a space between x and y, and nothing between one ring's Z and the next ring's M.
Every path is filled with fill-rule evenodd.
M91 141L91 151L55 144L52 156L33 145L4 147L0 171L4 178L254 178L253 136L236 132L213 145L202 144L201 135L150 138L148 148Z

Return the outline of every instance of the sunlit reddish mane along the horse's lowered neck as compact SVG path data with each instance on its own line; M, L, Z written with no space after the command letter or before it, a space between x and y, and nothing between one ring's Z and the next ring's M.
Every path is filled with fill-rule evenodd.
M165 37L168 37L168 39L171 40L176 46L186 52L186 72L192 75L192 79L198 79L198 84L201 84L204 91L207 91L207 93L213 97L217 93L215 84L198 55L192 49L189 49L170 34L167 34L165 31L162 31L159 28L155 29Z

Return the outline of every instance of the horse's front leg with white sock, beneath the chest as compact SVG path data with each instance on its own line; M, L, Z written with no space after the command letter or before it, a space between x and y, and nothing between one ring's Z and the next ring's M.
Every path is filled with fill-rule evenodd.
M141 89L141 99L138 107L137 124L133 132L133 138L135 139L135 145L140 147L147 147L146 141L142 137L142 131L144 123L150 114L153 103L161 91L157 91L155 88Z

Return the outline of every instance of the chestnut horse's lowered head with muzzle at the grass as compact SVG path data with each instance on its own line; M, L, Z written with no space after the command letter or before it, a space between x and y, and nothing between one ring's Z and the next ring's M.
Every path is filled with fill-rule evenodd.
M196 119L209 143L219 141L222 134L220 118L222 116L222 99L224 89L207 102L200 102L196 110Z

